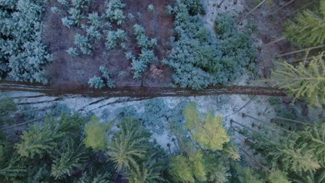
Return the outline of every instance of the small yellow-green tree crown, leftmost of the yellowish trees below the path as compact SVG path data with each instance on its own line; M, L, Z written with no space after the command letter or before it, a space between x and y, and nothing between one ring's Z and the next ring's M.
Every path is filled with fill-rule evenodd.
M106 131L109 130L112 123L101 123L97 116L92 116L90 122L85 125L85 139L83 142L87 148L93 150L106 150L108 135Z

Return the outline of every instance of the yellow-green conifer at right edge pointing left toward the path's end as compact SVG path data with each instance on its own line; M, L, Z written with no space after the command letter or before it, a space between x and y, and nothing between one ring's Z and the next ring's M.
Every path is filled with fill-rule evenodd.
M272 72L274 86L288 89L294 98L306 98L310 105L322 107L325 103L325 62L324 52L313 57L309 64L300 63L294 67L280 62L281 69Z

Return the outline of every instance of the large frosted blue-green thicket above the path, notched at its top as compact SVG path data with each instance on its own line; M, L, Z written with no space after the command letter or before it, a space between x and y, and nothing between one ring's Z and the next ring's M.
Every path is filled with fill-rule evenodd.
M204 28L199 1L177 1L169 12L175 17L173 48L163 62L174 69L181 87L201 89L235 79L244 67L253 69L254 51L249 36L240 33L233 16L216 20L217 40Z

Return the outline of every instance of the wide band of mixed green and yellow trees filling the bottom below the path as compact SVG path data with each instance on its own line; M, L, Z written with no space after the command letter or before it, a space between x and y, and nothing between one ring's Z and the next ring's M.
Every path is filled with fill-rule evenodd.
M0 105L0 112L15 111L12 100L1 101L12 107ZM128 182L324 182L324 121L277 131L253 130L253 125L237 126L240 123L233 121L226 130L221 116L199 112L195 103L167 109L163 101L153 99L145 107L143 114L123 108L110 122L96 116L51 114L44 122L23 128L16 141L0 130L0 178L110 182L119 174ZM149 132L162 120L174 138L168 150ZM236 146L233 132L244 135L251 150Z

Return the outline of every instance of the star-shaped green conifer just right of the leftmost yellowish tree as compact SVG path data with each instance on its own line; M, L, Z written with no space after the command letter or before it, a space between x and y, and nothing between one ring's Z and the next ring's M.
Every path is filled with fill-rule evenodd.
M126 117L119 124L119 132L108 145L108 155L115 162L117 171L128 170L138 166L137 158L146 153L150 134L141 128L138 120Z

